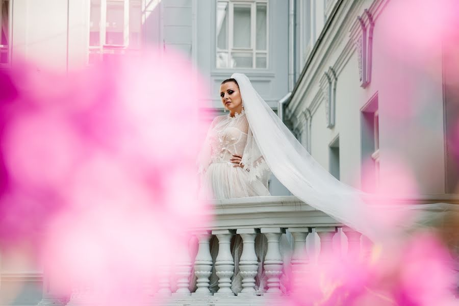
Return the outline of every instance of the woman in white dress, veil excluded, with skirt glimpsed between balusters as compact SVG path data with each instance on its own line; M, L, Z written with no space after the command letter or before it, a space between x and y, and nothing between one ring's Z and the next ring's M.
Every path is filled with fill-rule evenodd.
M245 115L244 104L235 79L221 83L220 98L229 114L218 116L209 128L205 145L201 151L204 161L200 165L200 197L202 199L228 199L250 196L269 196L268 178L271 171L260 151L253 150L254 139ZM253 153L255 153L253 155ZM250 158L245 158L250 155ZM267 242L263 235L258 235L255 250L258 257L259 273L256 277L256 289L263 292L266 288L266 277L261 264L266 255ZM242 290L242 277L238 263L242 253L242 239L235 236L231 245L235 258L235 273L232 278L232 290ZM218 242L211 242L211 254L215 259L218 253ZM215 269L210 278L210 289L218 290L218 277Z

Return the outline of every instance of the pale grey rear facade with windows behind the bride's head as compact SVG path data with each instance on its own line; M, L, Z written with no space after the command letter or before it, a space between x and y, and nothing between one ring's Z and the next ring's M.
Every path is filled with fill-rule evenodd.
M270 104L288 91L288 2L281 0L2 0L2 67L19 57L75 69L152 44L180 50L210 80L246 73ZM44 22L43 22L44 21Z

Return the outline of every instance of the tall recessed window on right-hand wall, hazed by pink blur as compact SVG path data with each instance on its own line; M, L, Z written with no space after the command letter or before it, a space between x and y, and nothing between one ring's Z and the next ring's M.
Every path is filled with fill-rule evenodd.
M362 109L362 187L374 192L379 186L379 111L374 95Z

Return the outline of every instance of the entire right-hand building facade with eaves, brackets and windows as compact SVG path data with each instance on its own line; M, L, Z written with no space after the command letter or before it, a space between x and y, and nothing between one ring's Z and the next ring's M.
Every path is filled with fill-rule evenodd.
M398 177L414 193L457 193L448 45L441 33L419 38L404 25L427 12L401 17L409 8L385 0L295 6L294 87L283 112L303 146L367 191L389 190Z

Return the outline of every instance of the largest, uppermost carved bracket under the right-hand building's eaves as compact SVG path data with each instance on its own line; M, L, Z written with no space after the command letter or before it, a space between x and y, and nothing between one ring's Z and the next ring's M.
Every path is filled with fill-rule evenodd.
M364 15L357 16L355 23L360 27L351 32L351 40L355 44L358 56L360 86L366 88L371 82L371 66L373 57L373 16L368 9L364 10Z

